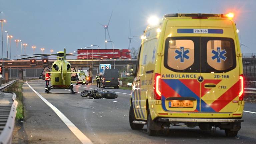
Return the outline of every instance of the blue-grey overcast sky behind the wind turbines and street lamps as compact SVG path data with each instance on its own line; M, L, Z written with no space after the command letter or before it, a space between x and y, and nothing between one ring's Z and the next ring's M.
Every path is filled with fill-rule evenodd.
M256 52L256 1L255 0L0 0L0 12L4 31L13 35L12 58L16 55L14 39L27 43L26 54L62 51L73 52L91 44L104 48L104 28L99 23L109 24L111 40L117 49L128 48L129 20L131 36L141 36L148 17L161 18L166 13L235 13L235 22L240 30L242 52ZM109 40L109 38L108 38ZM136 41L137 42L136 42ZM140 39L132 40L132 47L139 47ZM95 47L97 48L97 47ZM107 45L111 48L111 44ZM6 33L4 32L6 51ZM20 54L20 44L19 52ZM6 52L4 52L6 57Z

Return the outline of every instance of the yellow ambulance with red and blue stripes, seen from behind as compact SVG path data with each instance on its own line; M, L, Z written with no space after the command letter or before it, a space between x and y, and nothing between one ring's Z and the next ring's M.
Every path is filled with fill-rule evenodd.
M236 136L243 122L243 68L232 13L166 14L144 31L134 76L132 129L168 133L184 123Z

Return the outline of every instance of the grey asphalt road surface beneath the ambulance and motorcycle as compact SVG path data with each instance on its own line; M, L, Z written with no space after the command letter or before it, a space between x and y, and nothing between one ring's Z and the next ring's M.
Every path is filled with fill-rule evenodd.
M170 127L168 136L148 136L143 130L129 126L130 90L108 89L118 92L116 99L82 98L79 93L53 89L44 93L45 81L34 80L28 84L47 101L61 111L92 143L95 144L151 144L151 143L256 143L256 114L244 112L238 137L226 137L217 128L215 134L201 131L198 127ZM90 88L90 89L88 89ZM76 86L74 91L92 90L96 86ZM123 94L124 93L124 94ZM126 93L126 94L125 94ZM26 83L23 85L25 120L14 136L14 143L81 143L57 114ZM256 112L255 103L246 103L246 111Z

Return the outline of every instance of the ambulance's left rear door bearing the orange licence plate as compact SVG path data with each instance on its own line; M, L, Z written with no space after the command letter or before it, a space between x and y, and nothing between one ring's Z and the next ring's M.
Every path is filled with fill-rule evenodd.
M161 100L165 111L200 111L199 19L167 21L161 62ZM193 30L192 30L193 31Z

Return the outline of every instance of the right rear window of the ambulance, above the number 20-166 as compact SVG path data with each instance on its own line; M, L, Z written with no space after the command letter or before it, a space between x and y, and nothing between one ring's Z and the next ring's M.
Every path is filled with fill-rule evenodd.
M202 54L202 60L207 61L202 62L203 73L227 72L236 67L235 45L231 38L203 38Z

